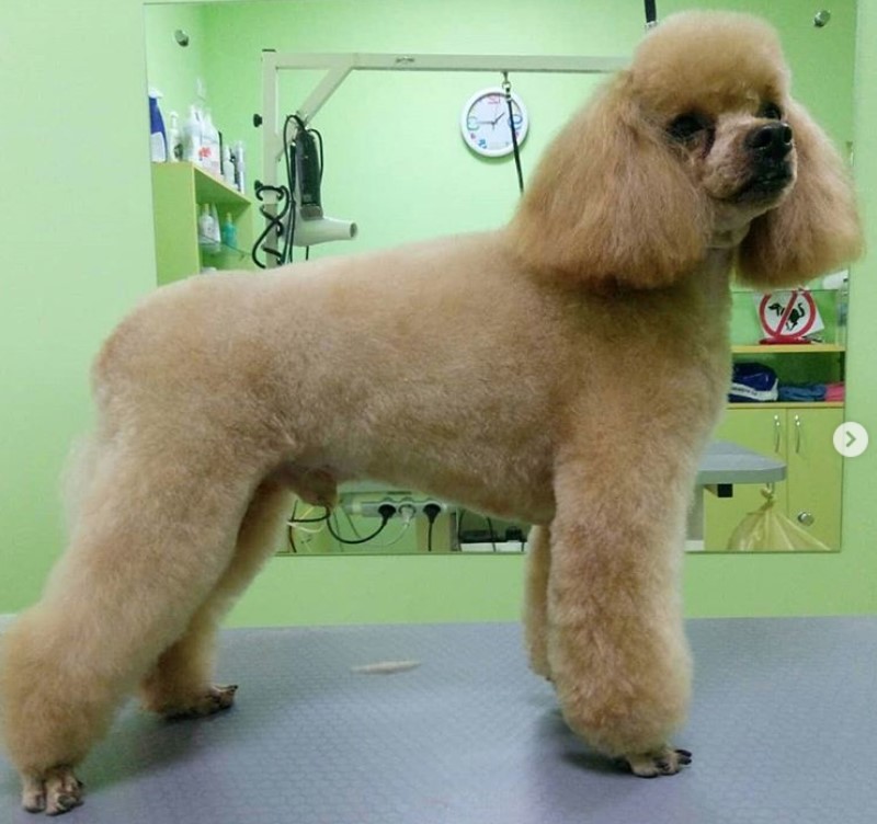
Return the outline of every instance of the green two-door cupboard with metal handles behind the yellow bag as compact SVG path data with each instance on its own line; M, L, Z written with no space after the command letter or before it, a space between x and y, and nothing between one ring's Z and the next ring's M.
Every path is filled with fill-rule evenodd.
M732 440L786 464L786 480L775 485L778 511L830 549L841 546L843 459L832 436L843 408L828 404L730 407L716 438ZM734 487L732 497L705 493L705 549L724 551L734 528L764 503L761 488Z

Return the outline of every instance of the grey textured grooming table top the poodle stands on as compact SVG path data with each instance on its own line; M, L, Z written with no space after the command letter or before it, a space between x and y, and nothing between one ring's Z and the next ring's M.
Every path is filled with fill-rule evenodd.
M235 709L132 703L76 824L873 824L877 618L694 620L694 764L643 780L565 726L514 623L227 630ZM417 660L366 675L352 667ZM0 821L18 809L0 757Z

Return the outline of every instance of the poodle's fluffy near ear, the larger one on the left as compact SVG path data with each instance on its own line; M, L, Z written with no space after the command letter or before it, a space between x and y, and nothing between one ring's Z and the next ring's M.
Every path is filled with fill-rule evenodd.
M624 73L555 138L509 230L526 265L595 290L657 288L703 260L704 195Z

